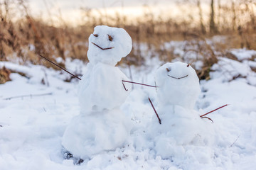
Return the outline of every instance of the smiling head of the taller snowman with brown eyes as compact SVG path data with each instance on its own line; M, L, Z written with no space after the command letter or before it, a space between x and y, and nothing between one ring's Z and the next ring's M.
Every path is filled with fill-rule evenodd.
M89 62L115 65L132 50L132 38L123 28L96 26L89 37Z

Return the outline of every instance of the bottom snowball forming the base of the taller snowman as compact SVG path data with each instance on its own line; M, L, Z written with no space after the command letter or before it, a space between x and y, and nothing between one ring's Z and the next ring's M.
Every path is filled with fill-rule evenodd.
M119 110L80 114L65 130L62 145L80 159L123 147L131 129L128 120Z

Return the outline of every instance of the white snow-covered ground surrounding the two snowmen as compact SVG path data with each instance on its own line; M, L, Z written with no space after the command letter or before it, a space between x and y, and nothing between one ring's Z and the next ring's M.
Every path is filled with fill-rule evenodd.
M0 85L0 169L255 169L256 167L256 55L252 50L233 50L238 60L219 58L209 81L201 81L195 110L201 114L228 104L204 119L214 128L212 145L174 145L176 154L162 158L145 137L156 103L156 89L133 85L122 105L132 120L127 144L73 164L63 159L63 133L80 113L78 81L65 82L70 75L43 66L21 66L0 62L12 73L12 81ZM129 57L129 56L128 56ZM119 67L132 81L154 85L156 69L164 64L156 58L144 67ZM86 64L66 61L70 72L84 72ZM114 96L110 96L114 97ZM156 106L157 108L157 106ZM158 123L158 122L156 122ZM200 127L204 129L204 127ZM187 132L190 133L189 130ZM165 149L165 148L160 148Z

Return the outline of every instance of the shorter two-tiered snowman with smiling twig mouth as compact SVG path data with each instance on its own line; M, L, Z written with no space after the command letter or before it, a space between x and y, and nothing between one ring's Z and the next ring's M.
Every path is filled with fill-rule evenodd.
M157 112L149 125L156 154L163 158L182 155L187 145L208 145L211 129L193 110L201 92L198 76L190 64L166 63L155 74Z

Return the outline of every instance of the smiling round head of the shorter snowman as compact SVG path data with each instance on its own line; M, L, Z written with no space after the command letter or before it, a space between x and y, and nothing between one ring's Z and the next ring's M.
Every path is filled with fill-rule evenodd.
M191 65L183 62L166 63L156 71L155 80L156 86L159 86L159 104L194 107L201 89Z

